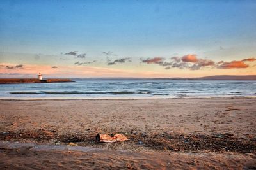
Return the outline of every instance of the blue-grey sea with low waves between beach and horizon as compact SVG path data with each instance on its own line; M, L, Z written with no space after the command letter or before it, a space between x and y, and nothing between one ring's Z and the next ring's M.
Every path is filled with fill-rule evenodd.
M74 79L74 83L0 85L0 99L256 97L256 81Z

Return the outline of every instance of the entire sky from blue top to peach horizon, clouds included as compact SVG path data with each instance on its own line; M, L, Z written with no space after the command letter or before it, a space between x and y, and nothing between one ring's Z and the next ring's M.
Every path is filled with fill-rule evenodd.
M256 74L256 1L0 1L0 78Z

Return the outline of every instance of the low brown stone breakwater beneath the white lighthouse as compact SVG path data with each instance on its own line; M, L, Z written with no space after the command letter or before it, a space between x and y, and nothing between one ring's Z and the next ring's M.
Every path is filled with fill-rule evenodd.
M17 83L68 83L74 82L67 78L49 78L38 80L36 78L0 78L0 84L17 84Z

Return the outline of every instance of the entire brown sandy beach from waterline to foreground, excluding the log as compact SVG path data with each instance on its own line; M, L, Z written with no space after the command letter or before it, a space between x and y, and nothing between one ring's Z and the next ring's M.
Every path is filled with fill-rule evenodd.
M0 106L0 166L7 169L256 168L255 98L1 100ZM95 143L97 133L129 141ZM11 145L17 142L97 149Z

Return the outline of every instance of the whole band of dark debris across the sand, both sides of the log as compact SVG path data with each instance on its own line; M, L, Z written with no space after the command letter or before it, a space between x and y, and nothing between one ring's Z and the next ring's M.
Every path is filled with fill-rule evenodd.
M141 145L152 150L170 150L173 152L199 152L207 150L211 152L239 152L256 153L255 138L238 138L234 134L127 134L129 138L125 145L134 148ZM26 132L0 132L0 140L22 141L31 139L44 143L45 141L67 145L68 143L79 143L79 146L96 146L95 134L58 134L56 131L39 129L38 131ZM131 148L131 147L129 147Z

